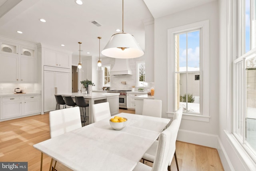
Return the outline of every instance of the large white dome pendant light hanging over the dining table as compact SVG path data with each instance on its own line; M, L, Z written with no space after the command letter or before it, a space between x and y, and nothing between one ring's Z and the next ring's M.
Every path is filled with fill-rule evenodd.
M111 58L138 58L144 55L134 36L124 33L124 0L122 1L122 33L113 34L101 53Z

